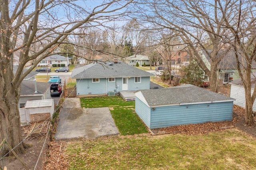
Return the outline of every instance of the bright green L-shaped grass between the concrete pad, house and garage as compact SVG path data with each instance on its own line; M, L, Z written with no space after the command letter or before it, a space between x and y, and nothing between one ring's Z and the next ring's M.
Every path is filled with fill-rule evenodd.
M124 101L122 97L81 98L81 107L109 107L120 135L147 133L145 125L134 111L134 101Z

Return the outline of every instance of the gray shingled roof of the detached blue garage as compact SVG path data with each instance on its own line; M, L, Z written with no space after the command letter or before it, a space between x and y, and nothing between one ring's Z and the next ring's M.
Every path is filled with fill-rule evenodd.
M216 103L217 101L235 100L190 84L140 91L150 107L159 105L180 105L184 103Z

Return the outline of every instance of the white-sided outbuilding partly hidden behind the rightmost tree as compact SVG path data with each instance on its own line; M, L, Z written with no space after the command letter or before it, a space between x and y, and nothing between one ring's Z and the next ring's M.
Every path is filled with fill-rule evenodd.
M251 94L254 91L255 82L256 82L256 73L252 73L251 74L251 84L252 84ZM229 84L231 84L230 97L236 99L236 101L234 101L234 104L245 108L245 92L244 92L244 86L241 78L231 81ZM252 110L256 111L255 102L252 106Z

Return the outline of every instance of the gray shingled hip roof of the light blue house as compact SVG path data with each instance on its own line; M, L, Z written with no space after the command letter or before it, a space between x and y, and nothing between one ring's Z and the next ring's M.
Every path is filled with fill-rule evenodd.
M108 65L112 63L112 65ZM106 77L149 77L154 74L138 69L126 63L97 62L72 70L72 78L106 78Z

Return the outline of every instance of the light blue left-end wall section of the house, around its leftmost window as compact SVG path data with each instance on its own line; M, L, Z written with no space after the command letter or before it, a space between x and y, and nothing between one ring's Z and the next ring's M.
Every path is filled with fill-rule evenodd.
M76 79L76 94L106 94L106 79L100 79L99 83L92 83L92 79Z

